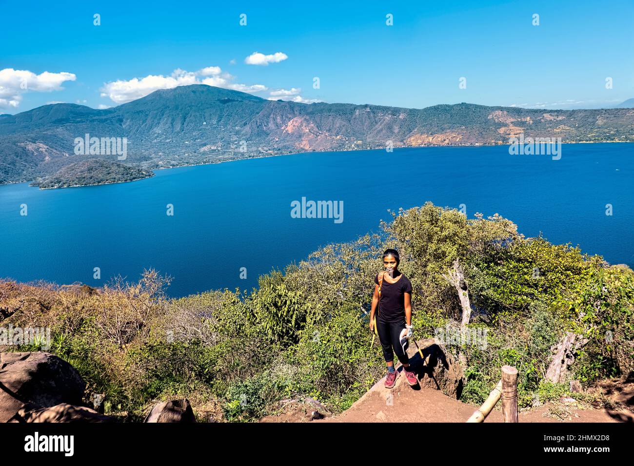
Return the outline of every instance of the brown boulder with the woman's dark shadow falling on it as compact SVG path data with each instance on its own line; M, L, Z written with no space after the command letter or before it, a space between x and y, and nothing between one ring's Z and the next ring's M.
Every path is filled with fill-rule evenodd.
M410 357L412 369L417 373L420 387L434 388L451 398L460 398L464 386L462 366L438 339L418 340L418 347L425 358L424 364L413 342L407 349L407 355Z

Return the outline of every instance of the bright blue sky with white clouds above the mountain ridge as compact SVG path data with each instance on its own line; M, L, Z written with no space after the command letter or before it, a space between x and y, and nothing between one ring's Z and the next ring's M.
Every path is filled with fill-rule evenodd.
M113 107L188 82L414 108L598 108L634 97L631 0L151 5L0 0L0 113ZM256 52L269 63L245 63Z

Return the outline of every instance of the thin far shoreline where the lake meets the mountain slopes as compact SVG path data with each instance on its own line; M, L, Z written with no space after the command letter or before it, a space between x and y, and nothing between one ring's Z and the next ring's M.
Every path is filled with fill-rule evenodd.
M562 143L564 144L634 144L634 141L574 141ZM425 148L425 147L492 147L492 146L510 146L510 144L441 144L441 145L422 145L422 146L400 146L394 147L394 149L413 149L413 148ZM385 148L373 148L373 149L333 149L333 150L305 150L301 152L287 152L287 153L277 153L268 155L260 155L258 157L245 157L243 159L230 159L230 160L220 160L216 162L206 162L203 164L183 164L176 165L175 167L158 167L153 169L143 169L150 170L152 172L159 170L169 170L174 168L184 168L184 167L198 167L200 165L215 165L215 164L224 164L225 162L238 162L239 160L252 160L252 159L266 159L268 157L280 157L280 155L300 155L305 153L325 153L325 152L360 152L363 150L385 150ZM140 168L140 167L137 167ZM127 181L112 181L110 183L96 183L96 184L74 184L72 186L58 186L56 188L39 188L39 186L29 186L29 188L39 188L40 190L58 190L63 188L81 188L83 186L103 186L104 184L118 184L118 183L133 183L134 181L140 181L141 179L153 178L152 176L145 176L143 178L131 179ZM0 183L0 186L8 185L8 184L20 184L20 183L31 183L32 181L8 181L6 183Z

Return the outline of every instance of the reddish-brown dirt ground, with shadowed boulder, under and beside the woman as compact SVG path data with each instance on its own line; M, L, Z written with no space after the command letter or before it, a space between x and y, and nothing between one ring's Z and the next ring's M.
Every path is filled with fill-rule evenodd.
M399 366L394 388L385 388L384 377L339 415L328 416L314 400L295 400L298 403L286 405L285 412L260 422L466 422L479 406L456 399L463 383L460 365L436 339L419 340L418 347L422 357L416 347L408 349L410 364L421 380L415 387L410 387ZM634 372L620 380L605 380L595 390L619 408L592 408L570 399L520 411L519 422L634 422ZM320 413L326 417L320 418ZM499 402L485 422L502 422Z

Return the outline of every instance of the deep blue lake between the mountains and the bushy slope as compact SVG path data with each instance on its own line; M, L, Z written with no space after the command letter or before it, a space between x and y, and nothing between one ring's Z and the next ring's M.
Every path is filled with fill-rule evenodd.
M633 156L626 143L563 145L560 160L510 155L508 146L404 148L181 167L82 188L9 184L0 186L0 277L100 286L155 268L173 277L172 296L250 289L271 268L378 231L387 209L428 200L465 204L469 217L498 212L526 236L541 231L632 266ZM343 221L291 217L291 202L302 197L342 201Z

